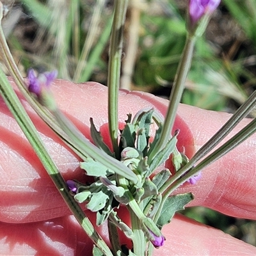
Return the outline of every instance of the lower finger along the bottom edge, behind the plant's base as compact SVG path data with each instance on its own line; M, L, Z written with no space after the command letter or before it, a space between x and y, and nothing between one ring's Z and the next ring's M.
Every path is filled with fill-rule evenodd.
M99 232L108 242L106 225ZM154 255L256 254L254 246L180 215L163 228L163 234L164 246ZM0 223L1 255L72 256L91 252L92 242L73 216L34 223Z

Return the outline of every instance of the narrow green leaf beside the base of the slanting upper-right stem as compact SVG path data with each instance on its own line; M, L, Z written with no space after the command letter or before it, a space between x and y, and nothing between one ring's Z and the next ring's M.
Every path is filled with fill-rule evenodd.
M150 163L147 176L149 176L152 172L154 172L154 170L156 170L156 168L160 164L164 163L168 159L170 154L172 154L172 152L176 146L176 143L177 143L177 138L176 138L176 136L173 136L172 139L168 141L168 143L163 148L163 150L158 152L158 154L154 157L154 159Z

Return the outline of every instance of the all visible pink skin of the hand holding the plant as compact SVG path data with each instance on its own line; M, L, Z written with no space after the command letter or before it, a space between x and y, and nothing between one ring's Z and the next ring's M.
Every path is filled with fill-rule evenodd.
M12 83L15 86L14 83ZM97 83L72 84L57 80L52 91L60 109L90 138L89 118L106 134L107 90ZM20 97L22 99L22 97ZM22 99L47 150L67 179L85 180L79 159ZM168 100L148 93L120 92L119 119L141 108L156 108L164 115ZM193 156L228 120L227 113L179 106L175 129L180 129L179 148ZM90 255L92 243L79 227L47 176L28 141L0 99L0 254L1 255ZM234 134L250 120L243 120ZM231 135L232 135L231 134ZM231 136L230 135L230 136ZM230 138L228 136L228 138ZM256 136L244 141L219 161L205 168L195 185L184 184L179 193L192 191L192 205L202 205L238 218L256 219ZM170 162L165 166L170 167ZM125 211L121 215L127 217ZM88 216L95 219L93 214ZM102 237L106 227L98 228ZM163 228L164 246L155 255L256 255L256 248L220 230L177 215ZM124 242L125 243L125 242Z

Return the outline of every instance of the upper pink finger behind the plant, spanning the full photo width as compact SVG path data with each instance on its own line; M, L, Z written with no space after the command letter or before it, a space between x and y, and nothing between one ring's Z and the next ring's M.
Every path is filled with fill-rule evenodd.
M60 108L86 136L90 117L93 116L98 129L108 121L107 89L104 86L97 83L76 85L59 80L53 90ZM124 122L127 113L134 115L146 107L154 107L164 114L168 104L166 100L138 92L120 92L119 102L120 122ZM83 172L79 170L77 157L67 147L60 145L60 140L31 111L26 102L24 105L65 179L82 179ZM3 104L0 115L3 120L0 127L0 147L3 148L0 166L3 179L0 181L0 189L4 195L0 199L3 209L0 220L27 222L68 214L61 196ZM228 118L227 114L188 106L180 107L179 116L175 127L180 129L179 141L182 141L189 157L194 147L201 147ZM202 180L196 186L184 186L180 191L193 191L196 196L194 205L205 205L233 216L255 218L254 140L255 136L212 164L204 171ZM243 156L243 159L237 161L239 156ZM241 168L244 169L243 175Z

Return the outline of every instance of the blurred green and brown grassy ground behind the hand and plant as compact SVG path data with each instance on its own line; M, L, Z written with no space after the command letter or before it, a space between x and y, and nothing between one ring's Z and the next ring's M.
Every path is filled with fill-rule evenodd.
M75 83L107 83L113 1L2 1L3 28L23 76L57 69ZM120 87L170 95L186 40L186 0L130 1ZM255 90L256 1L223 0L196 42L182 102L233 113ZM4 68L3 61L0 65ZM6 74L8 71L4 68ZM255 112L252 112L255 117ZM256 246L256 222L193 207L182 212Z

